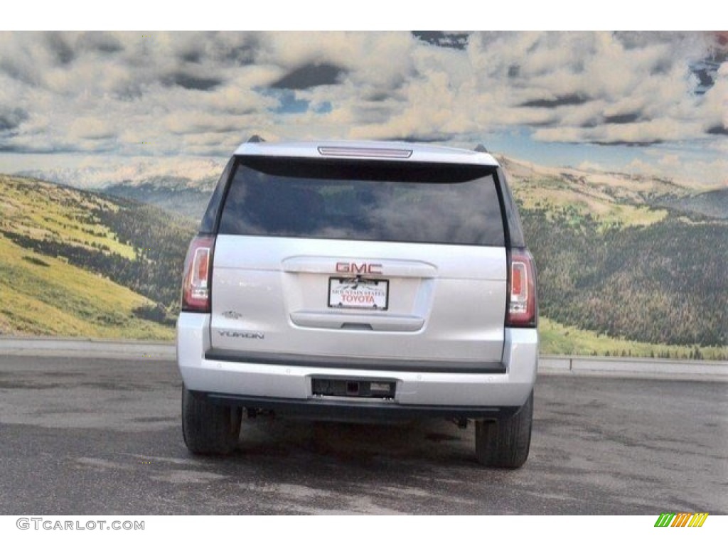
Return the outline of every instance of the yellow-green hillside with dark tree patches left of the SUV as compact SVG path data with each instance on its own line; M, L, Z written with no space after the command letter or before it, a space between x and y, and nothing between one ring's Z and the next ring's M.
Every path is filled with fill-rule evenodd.
M0 175L0 333L171 339L194 222Z

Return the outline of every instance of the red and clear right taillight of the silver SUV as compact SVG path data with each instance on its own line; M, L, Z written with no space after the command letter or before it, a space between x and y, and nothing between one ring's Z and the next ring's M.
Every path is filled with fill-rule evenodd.
M528 250L513 249L510 253L507 326L536 325L536 269Z

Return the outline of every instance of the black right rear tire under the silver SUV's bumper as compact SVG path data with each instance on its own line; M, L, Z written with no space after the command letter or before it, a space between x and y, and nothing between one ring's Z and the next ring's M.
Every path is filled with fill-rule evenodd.
M518 468L526 462L531 446L534 392L512 416L497 421L475 422L475 456L486 467Z

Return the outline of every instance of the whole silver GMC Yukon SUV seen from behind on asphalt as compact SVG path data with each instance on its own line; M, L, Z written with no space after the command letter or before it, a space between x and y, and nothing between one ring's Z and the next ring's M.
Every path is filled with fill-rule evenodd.
M498 162L393 142L235 151L187 253L177 359L194 454L243 408L310 419L475 422L520 467L538 363L535 271Z

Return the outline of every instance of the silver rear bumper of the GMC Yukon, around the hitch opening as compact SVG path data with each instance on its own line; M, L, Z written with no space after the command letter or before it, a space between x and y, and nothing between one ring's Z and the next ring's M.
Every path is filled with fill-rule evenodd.
M352 367L316 363L309 358L282 355L269 361L245 362L218 359L210 352L210 317L180 314L177 324L177 362L187 389L213 400L246 407L272 409L301 416L346 419L371 415L373 419L416 416L497 417L520 408L536 381L538 334L533 328L507 328L502 363L477 373L417 371L387 366ZM458 370L454 364L454 370ZM395 381L388 400L360 397L321 397L312 392L312 378L386 379Z

